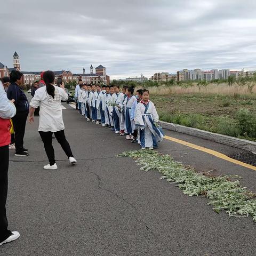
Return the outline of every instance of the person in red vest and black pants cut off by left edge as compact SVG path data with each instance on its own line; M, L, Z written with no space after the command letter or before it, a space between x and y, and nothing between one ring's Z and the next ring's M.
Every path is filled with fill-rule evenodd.
M17 231L8 230L6 217L6 198L8 189L8 169L9 169L9 144L11 141L11 122L16 114L13 100L9 101L0 81L0 245L9 243L19 238Z

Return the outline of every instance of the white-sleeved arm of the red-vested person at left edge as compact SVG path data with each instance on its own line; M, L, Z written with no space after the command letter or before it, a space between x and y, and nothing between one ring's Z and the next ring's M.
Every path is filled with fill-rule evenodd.
M13 104L13 100L10 101L7 98L4 86L0 82L0 117L3 119L11 119L16 115L16 108Z

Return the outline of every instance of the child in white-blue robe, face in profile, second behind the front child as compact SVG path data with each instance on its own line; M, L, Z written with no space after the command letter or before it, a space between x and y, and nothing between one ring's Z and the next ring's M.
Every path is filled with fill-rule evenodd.
M124 132L126 133L126 140L133 139L134 122L132 121L132 105L137 99L133 95L134 87L128 87L126 89L126 97L124 99Z

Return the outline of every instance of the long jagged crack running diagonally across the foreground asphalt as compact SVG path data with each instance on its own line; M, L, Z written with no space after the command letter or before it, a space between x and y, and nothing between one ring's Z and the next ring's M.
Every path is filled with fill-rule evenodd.
M89 167L87 170L89 171L89 169L90 169L90 167ZM102 182L101 182L100 175L99 175L98 173L95 173L95 172L92 172L92 171L89 172L89 173L94 174L95 177L97 178L97 181L98 181L98 188L99 188L100 190L107 191L108 193L115 195L119 200L121 200L121 201L123 201L124 203L130 205L130 206L134 209L135 214L139 215L139 214L138 214L138 209L137 209L137 207L136 207L135 205L133 205L132 203L130 203L129 201L127 201L127 200L124 199L123 197L119 196L119 195L118 195L117 193L115 193L114 191L112 191L112 190L110 190L110 189L107 189L107 188L102 188L102 187L101 187ZM138 221L138 222L140 222L140 223L142 223L142 224L145 226L145 228L149 231L149 233L150 233L151 235L153 235L157 240L159 240L159 237L158 237L159 235L155 234L155 233L148 227L147 223L144 222L144 221L142 221L141 219L139 219L139 218L137 217L137 215L135 215L135 214L134 214L135 220ZM161 240L161 241L162 241L162 240ZM172 252L172 250L171 250L167 245L163 244L163 246L164 246L167 250L169 250L170 252Z

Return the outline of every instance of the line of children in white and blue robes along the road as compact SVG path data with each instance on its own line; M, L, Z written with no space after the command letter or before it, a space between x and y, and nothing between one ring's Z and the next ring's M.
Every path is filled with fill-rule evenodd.
M81 83L81 84L79 84ZM134 87L119 85L86 85L79 81L75 98L78 113L87 121L111 128L132 143L138 142L141 149L157 148L164 137L158 125L158 114L149 91L140 89L134 94Z

